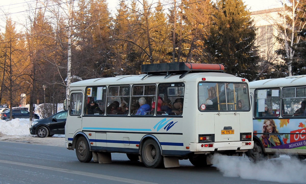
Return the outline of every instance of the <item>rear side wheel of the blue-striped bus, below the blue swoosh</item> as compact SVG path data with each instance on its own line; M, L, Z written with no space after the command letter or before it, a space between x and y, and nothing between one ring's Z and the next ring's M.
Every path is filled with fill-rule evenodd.
M152 139L147 139L142 145L141 159L149 168L161 167L164 162L159 145Z

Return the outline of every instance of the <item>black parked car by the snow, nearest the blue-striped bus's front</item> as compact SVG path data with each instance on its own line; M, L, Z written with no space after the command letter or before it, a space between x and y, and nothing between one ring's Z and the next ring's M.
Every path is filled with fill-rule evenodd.
M66 118L67 111L61 111L48 118L35 120L30 127L30 134L40 138L54 134L65 134Z

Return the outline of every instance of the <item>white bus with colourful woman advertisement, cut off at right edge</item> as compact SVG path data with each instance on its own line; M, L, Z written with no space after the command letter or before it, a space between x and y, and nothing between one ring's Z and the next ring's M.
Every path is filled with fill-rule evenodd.
M250 82L254 148L250 160L306 158L306 75Z

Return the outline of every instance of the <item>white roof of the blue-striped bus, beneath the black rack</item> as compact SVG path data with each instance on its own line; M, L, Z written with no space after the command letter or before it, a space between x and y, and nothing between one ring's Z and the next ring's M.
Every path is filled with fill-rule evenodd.
M206 78L206 82L241 82L240 77L227 73L203 72L188 73L180 79L181 74L170 75L168 78L164 75L118 75L116 77L87 79L71 83L70 87L76 86L98 86L98 85L119 85L119 84L146 84L146 83L170 83L183 81L199 81ZM248 80L245 79L247 82Z

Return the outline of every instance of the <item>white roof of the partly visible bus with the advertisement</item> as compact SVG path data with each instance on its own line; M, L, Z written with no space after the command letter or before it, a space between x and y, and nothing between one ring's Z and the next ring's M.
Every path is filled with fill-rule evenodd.
M277 79L256 80L249 83L250 88L271 88L302 86L306 84L306 75L296 75Z

